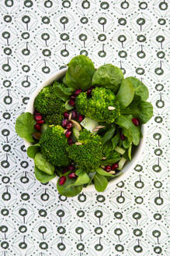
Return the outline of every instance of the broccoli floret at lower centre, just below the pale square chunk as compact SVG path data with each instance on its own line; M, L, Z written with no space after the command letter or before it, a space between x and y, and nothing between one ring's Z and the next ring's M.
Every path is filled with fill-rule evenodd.
M101 137L88 130L82 130L78 142L81 144L72 144L67 148L69 158L87 172L98 168L102 159Z

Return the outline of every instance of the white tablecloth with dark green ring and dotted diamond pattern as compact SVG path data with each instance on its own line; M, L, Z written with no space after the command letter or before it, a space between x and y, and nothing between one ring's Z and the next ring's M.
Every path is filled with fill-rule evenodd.
M168 0L3 0L0 12L0 255L169 256ZM66 198L36 181L14 126L41 81L78 54L139 77L154 116L126 180Z

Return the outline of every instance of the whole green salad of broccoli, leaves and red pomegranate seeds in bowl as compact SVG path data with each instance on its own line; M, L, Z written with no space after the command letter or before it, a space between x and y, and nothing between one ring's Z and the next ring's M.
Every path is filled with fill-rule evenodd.
M40 91L34 113L16 119L16 133L32 143L27 155L35 176L47 183L58 176L57 190L74 197L94 184L99 192L121 175L140 143L141 125L153 115L147 87L134 76L106 64L95 69L78 55L61 80Z

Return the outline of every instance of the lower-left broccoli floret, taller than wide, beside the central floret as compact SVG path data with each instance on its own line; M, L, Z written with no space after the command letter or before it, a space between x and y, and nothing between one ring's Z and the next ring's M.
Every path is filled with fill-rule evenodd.
M57 166L68 165L67 138L61 126L48 126L40 137L40 150L45 158Z

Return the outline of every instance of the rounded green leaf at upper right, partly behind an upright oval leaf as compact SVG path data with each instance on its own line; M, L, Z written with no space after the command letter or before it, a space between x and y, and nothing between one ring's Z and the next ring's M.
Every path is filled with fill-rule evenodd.
M134 76L128 76L126 79L130 80L130 82L132 83L134 87L134 94L140 96L142 101L147 101L149 92L146 85L144 85L140 80L138 80Z

